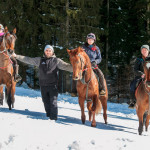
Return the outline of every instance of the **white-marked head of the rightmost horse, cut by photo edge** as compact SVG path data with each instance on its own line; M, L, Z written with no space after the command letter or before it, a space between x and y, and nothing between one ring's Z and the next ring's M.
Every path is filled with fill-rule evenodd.
M144 67L146 84L148 87L150 87L150 57L146 57L143 67Z

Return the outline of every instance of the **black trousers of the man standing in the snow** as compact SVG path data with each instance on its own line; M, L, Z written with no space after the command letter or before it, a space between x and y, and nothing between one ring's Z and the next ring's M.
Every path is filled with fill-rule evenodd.
M51 120L57 120L57 86L41 86L41 95L47 117L49 117Z

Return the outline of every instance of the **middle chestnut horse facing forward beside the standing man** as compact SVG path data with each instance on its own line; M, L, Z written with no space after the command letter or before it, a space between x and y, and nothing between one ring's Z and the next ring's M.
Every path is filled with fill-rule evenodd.
M70 62L73 66L73 79L77 81L77 92L81 108L81 120L85 123L84 102L87 101L89 121L92 119L92 127L96 127L95 114L101 111L103 106L103 117L107 124L107 86L106 95L99 97L98 80L92 70L88 55L80 47L67 50ZM105 81L106 85L106 81ZM102 106L101 106L102 104Z

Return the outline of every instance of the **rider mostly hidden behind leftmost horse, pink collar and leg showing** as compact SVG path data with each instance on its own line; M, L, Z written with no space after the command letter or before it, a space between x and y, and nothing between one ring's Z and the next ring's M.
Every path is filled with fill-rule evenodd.
M4 27L2 24L0 24L0 42L3 41L3 37L4 37ZM18 82L22 79L21 76L18 74L19 65L17 64L17 60L14 57L11 57L10 59L13 62L14 80L15 82Z

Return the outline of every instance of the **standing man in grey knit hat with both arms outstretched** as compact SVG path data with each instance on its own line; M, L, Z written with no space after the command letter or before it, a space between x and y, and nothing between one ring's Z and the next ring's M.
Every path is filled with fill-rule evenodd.
M51 45L45 46L43 57L31 58L16 54L13 54L13 56L21 62L39 68L39 84L46 115L51 120L57 120L58 69L73 72L72 66L57 58Z

